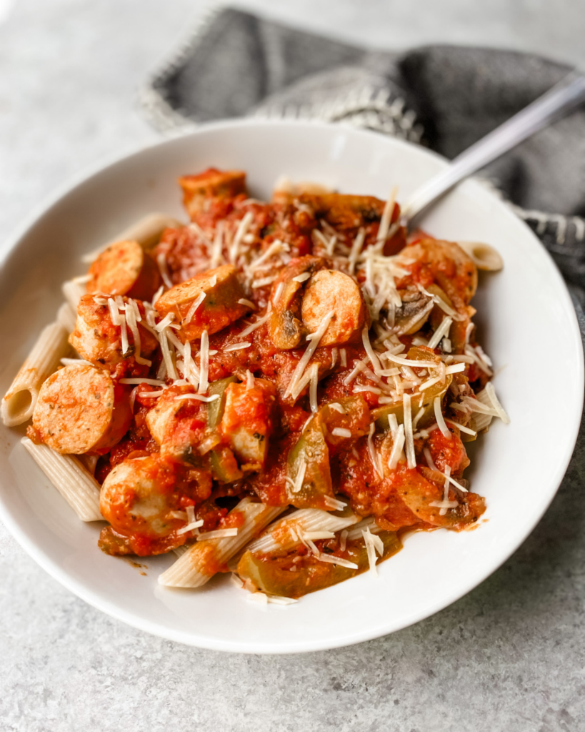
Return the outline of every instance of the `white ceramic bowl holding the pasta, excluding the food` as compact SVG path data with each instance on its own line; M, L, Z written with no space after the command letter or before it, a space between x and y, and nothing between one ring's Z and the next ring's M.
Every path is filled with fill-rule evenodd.
M148 147L86 177L31 218L10 242L0 271L0 387L61 302L79 259L152 211L184 217L181 173L208 165L248 171L253 195L268 196L282 173L347 193L404 200L445 167L420 147L373 132L325 124L223 122ZM483 241L505 269L480 277L474 305L480 339L494 360L497 392L511 417L472 444L472 489L486 496L485 521L461 534L411 536L380 566L289 607L262 608L227 578L198 591L163 589L172 557L140 560L146 576L97 548L99 524L81 523L19 444L1 428L0 518L53 577L106 613L193 646L249 653L335 648L399 630L445 608L484 580L535 527L569 462L583 402L581 337L551 258L492 193L468 181L424 221L446 239Z

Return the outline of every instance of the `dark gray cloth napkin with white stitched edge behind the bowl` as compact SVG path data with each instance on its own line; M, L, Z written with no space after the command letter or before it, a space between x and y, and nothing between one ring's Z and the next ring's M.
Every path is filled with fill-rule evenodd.
M159 130L238 116L318 118L452 158L559 81L568 67L511 51L368 51L217 8L141 92ZM585 304L585 107L485 168ZM579 313L578 313L579 314Z

